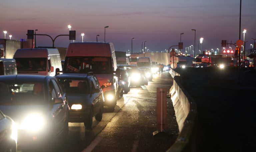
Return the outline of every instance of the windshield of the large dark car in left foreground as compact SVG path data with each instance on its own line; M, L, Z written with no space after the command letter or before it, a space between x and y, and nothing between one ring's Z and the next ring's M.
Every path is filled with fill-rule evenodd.
M43 83L5 83L0 81L0 104L43 104L45 87Z

